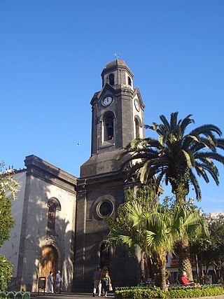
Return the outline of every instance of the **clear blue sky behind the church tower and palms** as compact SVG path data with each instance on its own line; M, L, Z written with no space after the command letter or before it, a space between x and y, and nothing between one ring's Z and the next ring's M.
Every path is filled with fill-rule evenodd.
M146 124L179 111L193 114L190 129L224 132L223 15L223 0L0 0L0 160L19 169L34 154L79 176L90 100L114 53L134 73ZM220 186L200 181L206 213L224 211L218 167Z

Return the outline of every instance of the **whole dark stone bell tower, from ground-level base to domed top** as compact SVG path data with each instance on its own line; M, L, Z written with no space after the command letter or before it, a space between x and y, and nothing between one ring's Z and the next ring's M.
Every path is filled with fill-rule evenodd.
M144 137L144 102L134 88L133 74L123 60L106 64L102 90L92 106L91 156L80 167L76 206L74 291L92 288L92 272L109 267L114 286L139 281L139 260L123 249L105 250L106 216L116 216L130 183L120 172L118 155L134 138Z

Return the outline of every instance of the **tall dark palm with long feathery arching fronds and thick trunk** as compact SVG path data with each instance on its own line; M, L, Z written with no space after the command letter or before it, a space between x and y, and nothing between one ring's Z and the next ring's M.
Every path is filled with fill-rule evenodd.
M190 184L193 185L196 199L202 199L196 174L207 183L210 174L218 185L219 174L214 161L224 165L223 155L217 152L217 149L224 149L221 130L215 125L202 125L186 134L188 125L195 123L191 116L178 120L178 112L175 112L168 122L161 115L161 124L145 126L158 133L158 140L151 137L134 139L119 157L125 157L123 167L132 163L129 175L135 174L141 183L148 183L153 177L158 186L163 180L166 185L170 183L179 204L186 202ZM180 255L181 270L186 270L192 279L188 239L183 239Z

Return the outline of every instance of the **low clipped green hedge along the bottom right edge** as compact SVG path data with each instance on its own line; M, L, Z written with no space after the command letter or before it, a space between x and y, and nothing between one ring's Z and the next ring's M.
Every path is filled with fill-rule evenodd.
M114 297L123 298L197 298L223 294L223 286L176 286L169 291L160 288L117 288Z

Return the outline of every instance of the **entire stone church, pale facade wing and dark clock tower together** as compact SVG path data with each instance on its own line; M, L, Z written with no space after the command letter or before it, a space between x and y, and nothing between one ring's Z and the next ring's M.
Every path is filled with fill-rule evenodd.
M105 250L105 216L116 216L130 182L118 155L132 139L144 137L144 102L123 60L106 64L102 90L92 106L91 156L76 178L35 155L15 173L20 183L13 202L16 225L0 249L14 265L9 288L38 291L38 281L62 272L62 291L92 291L92 273L109 267L114 286L137 284L141 256Z

